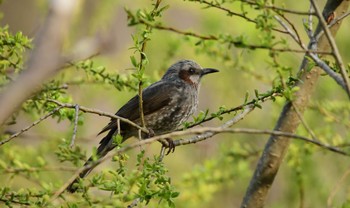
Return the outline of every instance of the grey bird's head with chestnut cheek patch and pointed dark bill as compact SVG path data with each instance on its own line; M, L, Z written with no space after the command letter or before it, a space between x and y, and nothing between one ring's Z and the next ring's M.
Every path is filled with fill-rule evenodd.
M218 71L212 68L202 68L199 64L191 60L181 60L173 64L162 79L170 81L180 80L190 85L198 86L204 75Z

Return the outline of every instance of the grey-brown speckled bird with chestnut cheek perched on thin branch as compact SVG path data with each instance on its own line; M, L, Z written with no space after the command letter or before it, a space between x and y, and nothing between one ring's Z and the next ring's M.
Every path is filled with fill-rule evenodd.
M147 129L152 132L151 134L161 135L179 128L197 110L202 77L218 71L213 68L202 68L192 60L180 60L171 65L159 81L143 89L144 121ZM115 115L141 125L139 102L139 95L135 95ZM96 158L102 158L114 149L117 144L113 141L113 136L117 133L120 133L123 138L121 142L133 136L138 137L136 127L125 122L118 124L118 122L117 119L112 118L108 125L100 131L99 134L109 132L100 141L95 157L90 157L84 166L91 165ZM145 137L147 135L142 134L142 138ZM81 172L67 187L67 190L74 193L78 189L74 184L87 176L95 166L92 165Z

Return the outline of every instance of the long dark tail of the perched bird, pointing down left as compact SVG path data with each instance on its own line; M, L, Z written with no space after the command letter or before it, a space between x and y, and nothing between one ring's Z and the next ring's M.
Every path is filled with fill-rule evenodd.
M95 163L94 161L103 158L104 156L106 156L106 154L111 151L115 145L113 146L113 134L115 132L115 129L111 130L100 142L100 146L97 148L97 152L96 152L96 156L95 157L90 157L84 164L84 167L90 166L89 168L85 169L84 171L82 171L79 176L72 182L69 184L69 186L67 187L67 191L74 193L77 189L78 186L75 185L76 183L78 183L78 181L82 178L84 178L85 176L87 176L98 164Z

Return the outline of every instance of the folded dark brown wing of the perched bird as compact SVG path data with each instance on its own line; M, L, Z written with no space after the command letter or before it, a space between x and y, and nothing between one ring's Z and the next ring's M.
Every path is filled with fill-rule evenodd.
M174 91L178 91L178 86L175 83L159 81L149 87L145 88L142 93L143 97L143 114L146 116L151 114L169 104L173 99ZM117 116L129 119L130 121L136 121L140 118L139 111L139 96L136 95L129 100L123 107L121 107L116 113ZM116 129L117 120L111 119L109 124L105 126L103 133L110 129Z

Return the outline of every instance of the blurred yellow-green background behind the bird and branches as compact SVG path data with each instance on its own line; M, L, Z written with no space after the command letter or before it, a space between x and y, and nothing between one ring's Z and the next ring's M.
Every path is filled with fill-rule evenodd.
M275 3L298 11L309 9L307 1L296 3L288 0L275 1ZM318 1L318 3L322 8L325 1ZM237 16L229 16L219 9L206 8L198 2L168 0L163 1L162 5L170 6L159 19L165 26L202 35L243 36L250 43L255 44L258 44L263 36L255 24ZM22 31L33 38L45 19L48 12L47 6L47 1L44 0L4 0L0 5L0 12L3 15L1 25L8 25L13 33ZM226 3L223 6L232 11L241 11L238 1ZM128 27L124 8L133 11L150 9L152 1L79 1L64 50L67 52L78 50L79 48L72 47L84 47L84 40L88 38L108 37L103 52L93 58L94 65L106 67L108 73L118 73L123 77L130 76L134 72L130 56L135 55L130 49L133 46L132 35L138 35L144 26ZM249 7L245 9L251 17L261 12ZM307 17L294 14L286 14L286 16L294 23L302 40L307 44L308 38L302 23L302 19ZM317 21L314 20L314 25L316 23ZM336 37L346 64L350 61L350 55L347 53L350 48L349 23L349 19L346 18ZM276 22L275 25L278 27ZM276 39L287 40L290 48L298 48L286 35L278 33L275 35ZM251 100L255 97L254 90L261 93L271 90L274 81L280 76L277 73L278 70L271 64L273 61L268 50L228 47L227 44L219 41L208 41L205 44L196 45L197 38L157 29L153 30L150 39L145 51L149 60L145 71L148 83L160 79L166 69L180 59L192 59L203 67L220 70L220 73L203 80L199 110L209 109L210 112L216 112L221 106L232 108L243 104L246 93L249 93L248 100ZM287 78L289 73L296 75L303 55L303 53L292 52L279 53L276 56L278 63L290 68L289 71L282 72L282 76ZM55 79L71 83L68 84L67 89L71 103L111 113L116 112L136 94L135 91L125 88L117 90L106 83L86 81L74 84L79 80L88 80L89 77L71 68L63 70ZM277 98L275 102L266 101L261 109L255 109L234 127L271 130L284 102L284 98ZM322 142L346 145L349 143L350 136L348 104L346 94L341 88L328 76L322 76L317 83L316 92L304 119ZM216 119L203 126L219 126L233 116L234 114L228 114L222 121ZM17 123L8 126L7 130L17 132L39 117L40 115L36 113L21 112ZM90 154L92 148L102 138L97 137L96 134L109 119L91 114L83 114L80 119L84 123L78 126L76 145ZM58 123L57 119L50 118L9 144L1 146L0 155L6 160L18 160L28 164L36 164L44 160L44 163L50 167L71 166L67 162L61 164L54 152L57 151L57 145L62 142L62 139L71 138L72 132L71 122L63 120ZM309 136L302 126L299 127L298 134ZM219 134L197 144L177 147L175 153L164 159L171 182L180 192L180 195L175 198L176 206L238 207L267 139L266 135ZM132 139L128 143L135 141ZM153 143L145 149L146 155L158 154L160 144ZM138 151L140 149L136 148L128 152L130 155L128 166L134 166ZM115 163L104 163L93 173L113 168L115 165ZM349 167L347 157L294 140L275 179L266 207L325 207L336 184ZM3 171L0 184L15 190L40 189L43 183L58 188L70 178L72 173L59 170L43 171L29 177L26 174L9 174ZM349 199L349 181L349 178L345 178L340 182L333 201L334 207L341 207ZM152 203L149 207L157 206L157 202Z

